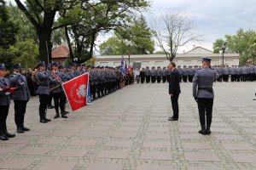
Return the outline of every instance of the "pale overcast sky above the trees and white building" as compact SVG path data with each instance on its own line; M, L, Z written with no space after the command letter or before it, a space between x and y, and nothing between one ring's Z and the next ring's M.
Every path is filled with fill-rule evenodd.
M14 2L14 0L11 0ZM256 0L151 0L150 14L146 14L148 25L152 18L177 9L187 14L195 23L195 33L203 36L202 42L191 42L183 50L201 46L212 50L212 42L226 34L236 34L240 28L256 29ZM97 44L111 35L101 35Z

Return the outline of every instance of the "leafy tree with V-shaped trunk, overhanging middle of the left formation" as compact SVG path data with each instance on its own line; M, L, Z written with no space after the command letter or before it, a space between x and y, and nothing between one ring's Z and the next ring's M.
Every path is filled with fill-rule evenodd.
M62 15L63 19L70 20L70 15L79 15L77 18L80 19L66 29L69 47L74 47L74 54L71 54L71 57L78 57L80 62L90 59L96 46L96 37L100 32L124 28L130 22L131 16L147 7L147 0L101 0L85 1L81 8L67 10Z

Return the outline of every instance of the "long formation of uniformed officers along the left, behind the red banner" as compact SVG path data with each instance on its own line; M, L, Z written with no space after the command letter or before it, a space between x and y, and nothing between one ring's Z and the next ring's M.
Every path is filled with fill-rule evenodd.
M39 98L39 122L47 123L47 109L55 109L54 118L67 118L67 99L61 87L74 77L79 77L85 72L90 75L91 99L100 99L119 90L127 82L127 74L120 71L119 67L94 67L77 65L73 63L67 68L53 62L46 65L39 62L38 65L28 71L20 71L21 65L13 65L13 74L9 75L5 65L0 64L0 139L14 138L15 134L7 130L6 119L9 114L10 100L15 104L15 124L17 133L24 133L30 129L24 126L26 104L31 95ZM51 104L54 100L54 106Z

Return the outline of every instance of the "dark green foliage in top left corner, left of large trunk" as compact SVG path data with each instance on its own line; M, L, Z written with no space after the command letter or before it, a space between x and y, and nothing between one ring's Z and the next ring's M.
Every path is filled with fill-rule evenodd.
M14 23L9 20L9 14L3 0L0 0L0 48L6 49L10 45L15 44L15 34L17 28Z

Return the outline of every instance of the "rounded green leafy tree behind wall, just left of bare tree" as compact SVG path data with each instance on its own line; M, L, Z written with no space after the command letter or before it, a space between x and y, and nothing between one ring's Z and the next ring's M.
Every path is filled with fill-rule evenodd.
M153 54L153 33L143 16L131 26L118 29L113 37L100 45L101 54Z

